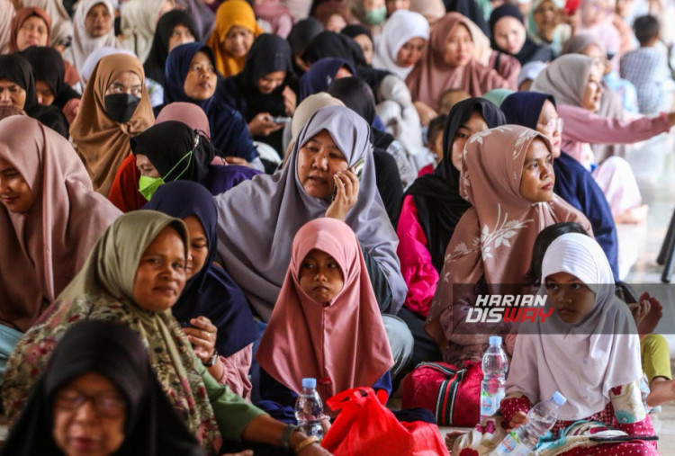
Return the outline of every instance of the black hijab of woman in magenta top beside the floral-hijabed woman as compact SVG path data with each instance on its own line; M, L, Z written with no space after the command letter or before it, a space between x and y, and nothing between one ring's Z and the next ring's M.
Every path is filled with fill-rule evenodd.
M445 263L446 248L464 212L471 207L459 194L459 171L453 165L455 135L473 112L479 112L488 128L506 123L495 103L484 98L468 98L453 106L443 133L443 160L432 174L419 177L406 194L412 195L418 210L419 224L427 237L431 262L438 273Z

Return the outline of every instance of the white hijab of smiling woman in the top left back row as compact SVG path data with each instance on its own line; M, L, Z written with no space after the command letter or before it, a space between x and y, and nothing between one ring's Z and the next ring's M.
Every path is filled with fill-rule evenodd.
M86 14L89 13L95 5L104 4L108 8L110 17L114 18L114 11L110 0L80 0L75 11L75 18L73 19L73 43L66 50L64 58L72 63L77 71L81 72L85 65L85 60L89 54L94 50L107 46L109 48L123 49L120 41L115 38L115 28L111 27L110 31L102 37L94 38L86 32L85 19Z

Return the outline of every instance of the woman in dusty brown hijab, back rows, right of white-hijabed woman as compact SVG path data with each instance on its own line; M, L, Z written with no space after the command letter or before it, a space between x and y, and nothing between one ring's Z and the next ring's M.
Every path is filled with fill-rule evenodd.
M437 111L440 94L450 88L476 97L509 88L497 71L473 57L474 41L471 21L462 14L447 13L436 22L422 58L406 79L416 106L423 103Z

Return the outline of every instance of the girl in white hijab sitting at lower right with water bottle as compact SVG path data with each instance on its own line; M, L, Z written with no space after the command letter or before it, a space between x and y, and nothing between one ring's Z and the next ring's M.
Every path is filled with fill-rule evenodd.
M614 435L655 435L640 395L643 373L635 321L614 293L602 248L580 233L558 237L544 255L542 278L541 292L548 294L553 315L521 326L500 412L456 439L453 454L467 447L488 454L506 434L502 423L523 425L527 411L555 391L567 402L553 437L540 441L537 454L658 454L653 443L639 438L590 440L591 434L601 437L610 430Z

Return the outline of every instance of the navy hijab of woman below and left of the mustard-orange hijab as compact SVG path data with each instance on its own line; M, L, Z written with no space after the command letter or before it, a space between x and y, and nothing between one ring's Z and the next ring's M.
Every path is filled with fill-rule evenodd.
M209 119L211 142L222 156L238 156L251 162L257 158L257 149L253 146L251 134L244 118L237 111L229 109L211 96L208 100L194 100L185 94L183 85L190 64L197 52L203 52L215 65L213 51L204 43L181 44L173 49L166 58L164 71L164 103L184 102L201 107ZM218 76L218 85L222 78ZM216 93L218 88L216 88Z

